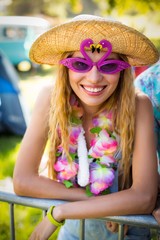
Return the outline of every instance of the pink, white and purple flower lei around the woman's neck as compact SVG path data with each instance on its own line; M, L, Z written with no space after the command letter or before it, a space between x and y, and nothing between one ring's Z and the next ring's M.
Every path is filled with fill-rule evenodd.
M112 130L112 112L103 111L93 118L94 127L90 131L95 134L95 138L91 140L88 151L81 122L83 111L74 95L71 105L73 110L72 127L69 129L69 153L73 161L67 160L60 144L54 164L57 179L67 188L85 187L88 196L106 194L114 182L117 168L114 154L118 149L118 141Z

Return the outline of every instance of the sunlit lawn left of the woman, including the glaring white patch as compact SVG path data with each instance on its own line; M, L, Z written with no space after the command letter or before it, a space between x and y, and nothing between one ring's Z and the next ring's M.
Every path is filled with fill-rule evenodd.
M40 71L20 75L19 86L28 114L31 115L35 99L40 89L54 79L52 71ZM0 188L12 190L12 176L22 137L0 136ZM35 225L42 219L40 209L15 205L16 240L27 240ZM10 239L9 205L0 202L0 240ZM56 239L51 237L50 239Z

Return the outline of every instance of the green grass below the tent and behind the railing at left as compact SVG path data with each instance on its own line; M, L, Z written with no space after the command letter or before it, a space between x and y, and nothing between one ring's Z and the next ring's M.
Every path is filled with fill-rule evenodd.
M0 137L0 179L13 176L13 169L22 138L4 135ZM42 219L42 210L15 205L16 240L28 239ZM10 216L8 203L0 202L0 240L10 239ZM50 240L57 239L57 232Z

